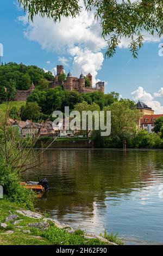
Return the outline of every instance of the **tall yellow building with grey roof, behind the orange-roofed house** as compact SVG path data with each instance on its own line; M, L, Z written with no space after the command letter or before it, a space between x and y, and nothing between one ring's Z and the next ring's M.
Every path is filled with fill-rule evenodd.
M145 115L153 115L154 114L154 110L152 110L152 108L150 108L145 103L140 102L140 101L137 102L136 109L138 109L139 112L140 112L138 130L141 130L141 123L142 123L143 116L145 116Z

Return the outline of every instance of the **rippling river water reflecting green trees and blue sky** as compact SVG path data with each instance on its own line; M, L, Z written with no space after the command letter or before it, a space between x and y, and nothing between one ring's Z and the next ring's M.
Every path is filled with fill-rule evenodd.
M99 234L118 233L127 245L163 244L163 151L52 149L26 180L48 179L36 209Z

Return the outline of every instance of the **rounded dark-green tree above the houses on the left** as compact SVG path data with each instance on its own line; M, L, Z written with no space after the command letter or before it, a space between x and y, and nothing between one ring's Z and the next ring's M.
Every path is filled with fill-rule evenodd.
M41 108L36 102L29 102L21 108L21 117L23 121L27 119L38 122L41 117Z

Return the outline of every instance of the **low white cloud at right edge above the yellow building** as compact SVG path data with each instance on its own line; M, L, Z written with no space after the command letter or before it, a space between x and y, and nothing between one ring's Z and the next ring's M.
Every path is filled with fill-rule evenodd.
M163 114L163 106L161 106L160 102L153 100L153 96L151 95L151 93L146 92L143 87L138 87L136 91L131 92L131 96L133 97L135 102L137 102L138 100L145 102L155 111L155 114Z

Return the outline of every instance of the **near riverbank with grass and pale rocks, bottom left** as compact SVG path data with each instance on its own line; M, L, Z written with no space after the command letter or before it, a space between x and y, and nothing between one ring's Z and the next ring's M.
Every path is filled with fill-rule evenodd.
M0 245L122 245L116 236L74 230L46 214L0 199Z

